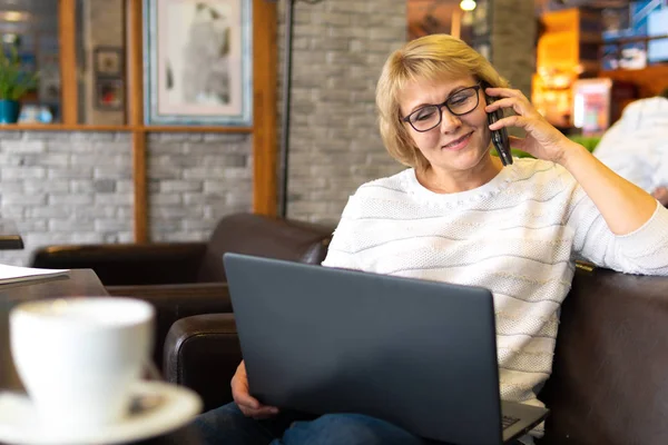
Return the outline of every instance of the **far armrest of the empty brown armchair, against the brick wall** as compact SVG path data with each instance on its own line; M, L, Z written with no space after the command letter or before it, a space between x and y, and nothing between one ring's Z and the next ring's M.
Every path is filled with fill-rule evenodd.
M105 286L196 283L205 243L62 245L32 253L31 266L94 269Z

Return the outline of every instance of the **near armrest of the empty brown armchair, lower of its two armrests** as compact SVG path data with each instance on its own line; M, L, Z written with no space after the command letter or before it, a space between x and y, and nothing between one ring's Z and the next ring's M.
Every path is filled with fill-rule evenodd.
M107 291L114 296L143 299L156 308L154 362L158 367L163 365L167 333L178 319L200 314L232 312L227 283L108 286Z

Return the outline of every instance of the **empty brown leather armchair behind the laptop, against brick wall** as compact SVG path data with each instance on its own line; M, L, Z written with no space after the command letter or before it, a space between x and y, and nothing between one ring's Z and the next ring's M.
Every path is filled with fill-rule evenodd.
M307 264L325 258L333 229L253 214L224 217L207 243L48 246L31 266L90 268L110 295L143 298L156 307L154 360L163 363L169 327L179 318L230 313L223 254L234 251Z

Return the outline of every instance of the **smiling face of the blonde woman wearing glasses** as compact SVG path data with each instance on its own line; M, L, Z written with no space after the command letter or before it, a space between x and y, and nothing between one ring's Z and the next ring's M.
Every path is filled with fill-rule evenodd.
M470 112L455 116L445 106L441 107L441 123L431 130L416 131L409 122L404 122L406 130L429 160L431 167L436 171L445 174L461 174L473 169L480 169L491 162L489 155L490 130L488 127L485 100L482 88L475 91L478 97L466 99L466 92L471 95L474 90L461 90L477 86L472 76L448 79L442 81L418 80L407 85L400 97L400 109L402 117L406 117L428 105L443 103L450 99L450 107L459 113L464 109L456 109L462 100L472 100L471 106L478 99L478 106ZM433 119L429 115L414 115L414 118L428 121ZM438 120L438 118L436 118ZM415 122L420 126L419 122Z

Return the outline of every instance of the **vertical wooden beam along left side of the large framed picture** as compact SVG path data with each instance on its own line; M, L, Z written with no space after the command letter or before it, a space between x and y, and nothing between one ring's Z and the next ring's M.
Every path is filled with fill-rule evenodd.
M148 181L144 130L144 27L141 0L128 0L128 117L132 128L135 243L148 243Z

